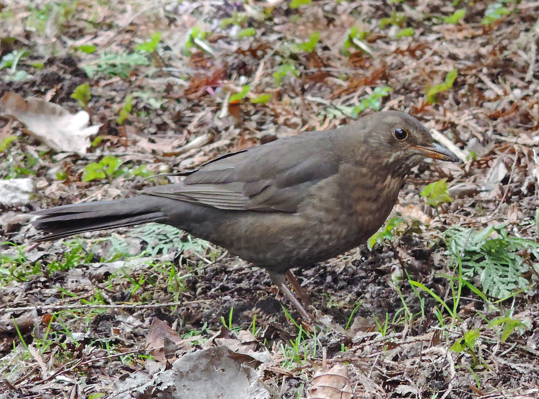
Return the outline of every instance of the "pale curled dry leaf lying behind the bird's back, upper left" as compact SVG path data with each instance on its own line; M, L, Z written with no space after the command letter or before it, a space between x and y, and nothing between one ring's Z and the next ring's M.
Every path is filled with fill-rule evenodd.
M86 111L70 114L52 102L29 98L8 92L0 99L0 113L10 115L26 125L27 130L58 152L86 154L89 136L98 132L101 125L88 126Z

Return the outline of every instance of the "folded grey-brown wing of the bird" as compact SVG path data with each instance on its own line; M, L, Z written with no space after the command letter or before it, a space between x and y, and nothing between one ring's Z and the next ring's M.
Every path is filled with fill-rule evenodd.
M291 136L224 155L144 193L219 209L295 212L314 184L337 173L337 156L326 132Z

